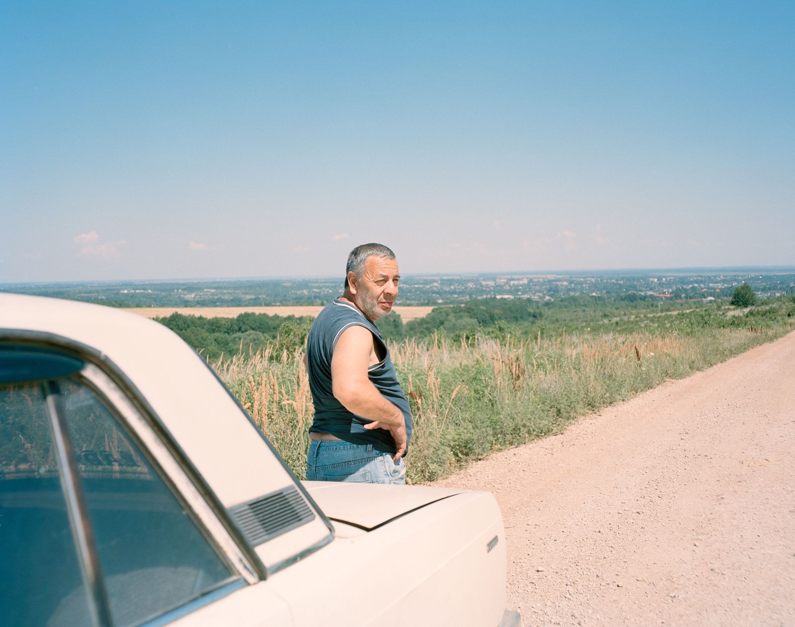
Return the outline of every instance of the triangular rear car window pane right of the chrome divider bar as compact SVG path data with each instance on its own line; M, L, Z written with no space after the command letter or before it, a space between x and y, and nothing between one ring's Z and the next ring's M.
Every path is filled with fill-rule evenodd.
M114 625L138 625L236 579L91 389L63 381L60 394ZM60 610L72 611L69 599Z

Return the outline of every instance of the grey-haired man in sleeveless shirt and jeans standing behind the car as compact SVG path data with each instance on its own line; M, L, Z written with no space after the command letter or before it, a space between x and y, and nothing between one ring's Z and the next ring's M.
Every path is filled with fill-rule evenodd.
M312 323L304 358L315 405L310 481L405 483L411 411L374 324L392 311L399 280L389 248L357 246L343 296Z

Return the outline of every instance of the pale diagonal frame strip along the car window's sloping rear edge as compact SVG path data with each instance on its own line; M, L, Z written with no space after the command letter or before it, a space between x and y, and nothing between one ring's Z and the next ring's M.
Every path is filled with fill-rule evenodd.
M118 413L140 440L149 455L152 455L157 466L160 466L159 470L165 474L165 478L179 493L184 505L187 505L199 519L199 527L204 532L203 535L209 536L207 540L221 549L233 571L245 579L246 583L252 584L260 581L257 571L254 570L249 559L240 550L235 539L227 532L227 528L215 516L210 506L207 505L204 496L193 485L180 463L173 458L169 449L153 432L149 423L134 408L130 400L122 393L122 390L118 389L118 385L115 385L102 370L93 364L84 366L80 374L94 387L96 392L104 397L107 404L114 408L115 412Z

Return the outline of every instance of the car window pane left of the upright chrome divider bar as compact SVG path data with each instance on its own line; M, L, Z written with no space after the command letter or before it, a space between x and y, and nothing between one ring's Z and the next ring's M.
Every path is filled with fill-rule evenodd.
M90 625L45 395L0 386L0 622L46 625L68 594L73 625Z

